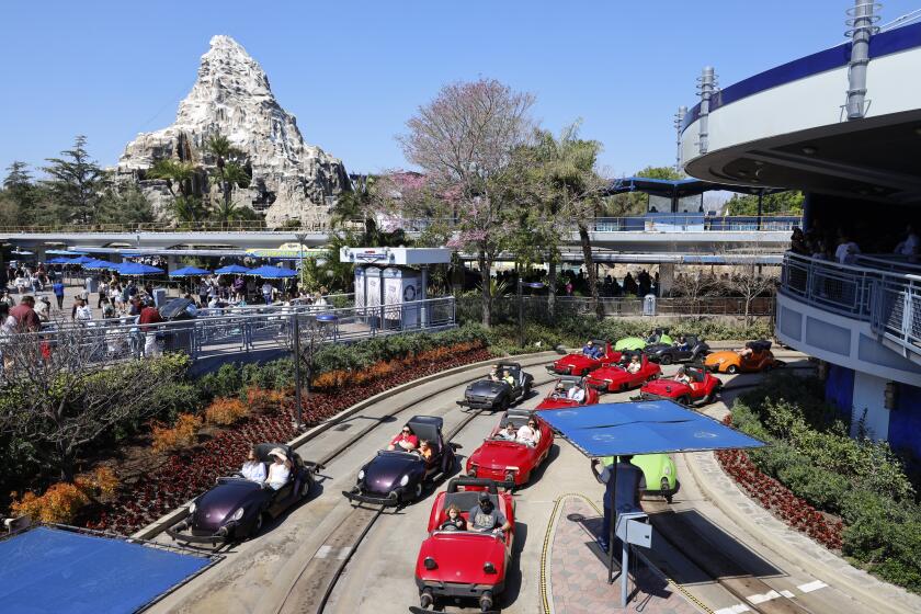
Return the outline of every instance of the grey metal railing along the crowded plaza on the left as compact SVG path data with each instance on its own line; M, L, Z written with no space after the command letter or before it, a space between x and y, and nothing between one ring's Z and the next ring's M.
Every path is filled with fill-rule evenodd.
M225 354L291 348L294 319L320 331L323 342L348 343L361 339L411 331L453 328L454 297L430 298L373 307L319 305L227 308L202 310L201 317L140 325L128 318L53 325L37 337L54 351L56 339L79 330L79 345L90 361L111 362L183 351L193 360ZM133 319L133 318L132 318ZM302 332L302 337L304 333ZM15 342L13 339L9 342Z

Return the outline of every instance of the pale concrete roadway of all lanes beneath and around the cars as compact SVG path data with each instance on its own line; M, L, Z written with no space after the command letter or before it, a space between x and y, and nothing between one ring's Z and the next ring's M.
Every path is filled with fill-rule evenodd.
M787 361L801 359L777 349L777 356ZM536 393L525 400L522 407L533 408L549 389L549 376L544 372L541 361L527 361L528 371L535 375ZM666 367L671 374L674 366ZM485 369L484 369L485 371ZM466 386L467 379L480 375L478 371L446 376L423 384L413 389L394 395L359 412L343 424L345 430L330 430L318 436L298 452L307 459L318 458L341 445L356 429L367 424L368 420L379 417L401 403L417 399L418 408L410 408L397 418L385 419L380 425L365 435L360 444L353 445L336 458L323 471L327 479L322 492L309 502L300 505L278 522L266 526L262 535L234 547L227 553L227 559L212 570L196 578L187 585L169 595L157 604L152 612L220 612L234 614L242 612L271 612L282 609L284 612L314 612L317 604L314 595L288 595L300 570L311 559L325 558L330 566L339 564L345 553L336 548L323 548L327 537L349 516L351 505L340 491L354 484L355 473L402 424L402 420L416 414L428 413L443 416L445 430L459 423L465 417L455 400ZM728 384L725 399L730 399L734 384L753 383L757 376L720 376ZM730 384L731 383L731 384ZM445 391L442 388L452 386ZM605 402L627 400L635 393L605 395ZM725 411L725 406L715 403L708 413ZM454 439L462 445L458 454L462 459L471 453L497 422L498 416L484 414L471 421ZM341 427L340 427L341 429ZM672 505L675 511L693 511L692 526L717 541L720 546L727 544L734 556L739 557L746 567L766 582L772 590L791 591L797 602L810 612L868 612L846 595L825 587L808 593L797 587L809 585L814 581L808 573L782 560L764 545L752 543L715 505L703 498L694 484L690 470L684 465L682 455L676 458L682 490ZM440 488L443 485L440 486ZM544 533L547 520L556 499L568 492L581 492L601 505L601 487L589 471L585 457L567 442L557 439L548 463L538 470L532 482L516 491L518 533L515 550L516 561L512 565L503 612L533 613L539 607L539 565ZM425 525L431 510L433 493L399 512L382 516L371 530L359 550L354 554L345 572L339 580L327 612L407 612L409 605L418 604L418 592L412 579L418 548L425 537ZM721 532L720 532L721 530ZM752 554L760 553L760 557ZM729 593L724 587L701 571L683 555L674 552L663 539L657 541L653 558L668 567L675 580L715 611L740 603L738 595ZM765 562L759 559L769 559ZM448 607L451 611L451 607ZM738 610L741 612L742 610Z

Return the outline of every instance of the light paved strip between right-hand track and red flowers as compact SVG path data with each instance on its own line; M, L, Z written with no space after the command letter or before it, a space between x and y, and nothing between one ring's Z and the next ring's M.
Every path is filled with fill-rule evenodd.
M721 402L714 403L703 411L717 419L723 419L728 412ZM805 534L789 528L783 521L749 499L732 478L724 473L712 452L686 454L685 459L706 498L752 539L783 559L799 566L816 579L877 612L921 612L921 596L856 569Z

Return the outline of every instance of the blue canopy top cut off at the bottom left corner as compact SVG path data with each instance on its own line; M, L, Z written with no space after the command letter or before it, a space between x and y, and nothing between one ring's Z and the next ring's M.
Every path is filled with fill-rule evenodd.
M39 526L0 542L0 609L127 614L211 564L205 556Z

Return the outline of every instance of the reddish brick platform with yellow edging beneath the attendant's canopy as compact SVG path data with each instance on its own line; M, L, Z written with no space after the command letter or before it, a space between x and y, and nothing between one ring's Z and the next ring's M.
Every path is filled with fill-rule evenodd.
M607 558L595 544L601 515L585 498L564 496L550 518L541 570L547 614L697 614L695 606L656 569L639 564L630 575L630 601L619 606L621 582L607 583Z

